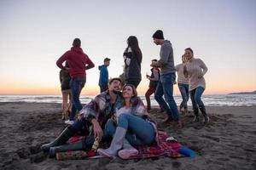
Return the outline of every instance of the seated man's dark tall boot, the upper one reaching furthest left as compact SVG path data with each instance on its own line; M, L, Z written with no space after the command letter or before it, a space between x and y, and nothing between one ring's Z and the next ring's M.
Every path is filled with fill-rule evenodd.
M72 130L66 127L53 142L50 142L49 144L43 144L41 146L41 150L49 151L50 147L65 144L67 140L70 139L71 137L73 137L73 132Z

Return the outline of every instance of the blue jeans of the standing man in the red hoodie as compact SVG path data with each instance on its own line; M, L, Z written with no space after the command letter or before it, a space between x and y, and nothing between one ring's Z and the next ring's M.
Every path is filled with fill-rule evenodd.
M69 120L73 121L74 117L76 116L77 111L81 111L83 109L83 106L80 102L80 94L82 88L84 88L84 84L86 82L86 79L84 77L76 77L72 78L69 85L71 88L71 93L72 93L72 111L69 116Z

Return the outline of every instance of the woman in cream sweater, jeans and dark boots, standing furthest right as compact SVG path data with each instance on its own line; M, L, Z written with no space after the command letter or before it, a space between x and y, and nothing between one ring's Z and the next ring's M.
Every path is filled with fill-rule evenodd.
M199 110L204 116L205 123L209 122L209 116L201 95L206 89L206 81L204 75L207 73L207 65L201 59L195 59L191 48L185 49L185 65L183 67L184 76L189 77L189 92L192 101L193 111L195 113L194 122L199 122Z

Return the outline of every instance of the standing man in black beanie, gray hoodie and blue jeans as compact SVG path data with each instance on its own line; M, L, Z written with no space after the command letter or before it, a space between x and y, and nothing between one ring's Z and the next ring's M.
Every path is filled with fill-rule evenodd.
M158 30L153 34L154 43L160 45L160 59L152 62L150 66L159 67L161 71L160 81L158 82L154 99L167 111L164 122L171 122L172 117L177 127L181 127L177 105L173 98L173 82L175 82L175 66L173 59L172 43L165 40L163 31ZM165 99L163 99L165 95ZM167 105L168 104L168 105Z

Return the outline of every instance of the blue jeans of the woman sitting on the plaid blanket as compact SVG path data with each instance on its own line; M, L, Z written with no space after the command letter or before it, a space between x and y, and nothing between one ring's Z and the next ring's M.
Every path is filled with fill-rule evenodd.
M117 126L127 129L125 139L131 145L152 144L154 142L155 132L153 125L141 117L121 114L118 125L109 119L105 129L113 137Z

